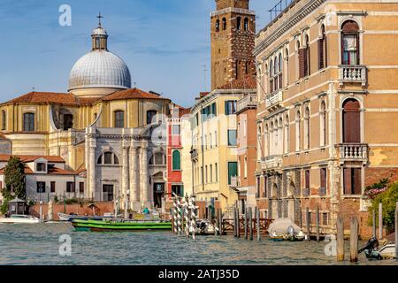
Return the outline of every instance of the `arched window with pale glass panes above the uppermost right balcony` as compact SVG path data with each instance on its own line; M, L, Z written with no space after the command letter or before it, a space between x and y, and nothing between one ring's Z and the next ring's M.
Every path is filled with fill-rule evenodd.
M359 63L359 27L354 20L347 20L341 27L341 64Z

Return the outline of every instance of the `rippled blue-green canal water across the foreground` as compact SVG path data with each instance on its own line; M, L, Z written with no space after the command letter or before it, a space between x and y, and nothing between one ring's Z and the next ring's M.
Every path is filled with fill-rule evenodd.
M60 242L62 235L70 237L64 239L71 240L71 256L59 254L60 246L65 243ZM267 239L247 241L233 236L202 236L197 237L196 241L188 241L171 232L74 232L69 223L0 225L0 265L338 264L335 256L325 255L328 243L330 244L325 241L274 242ZM359 246L363 245L364 242L361 242ZM326 254L327 250L326 247ZM346 256L348 255L347 250ZM358 264L397 263L369 262L361 255Z

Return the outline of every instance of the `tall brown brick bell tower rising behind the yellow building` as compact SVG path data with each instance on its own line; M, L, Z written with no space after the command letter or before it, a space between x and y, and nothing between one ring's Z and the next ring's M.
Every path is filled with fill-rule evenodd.
M249 0L215 0L211 12L211 90L256 72L256 13Z

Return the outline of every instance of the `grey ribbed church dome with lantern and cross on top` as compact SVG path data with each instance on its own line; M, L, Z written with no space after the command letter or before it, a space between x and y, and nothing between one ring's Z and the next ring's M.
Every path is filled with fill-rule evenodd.
M68 91L131 88L130 71L120 57L108 51L108 34L101 22L91 37L93 48L73 65Z

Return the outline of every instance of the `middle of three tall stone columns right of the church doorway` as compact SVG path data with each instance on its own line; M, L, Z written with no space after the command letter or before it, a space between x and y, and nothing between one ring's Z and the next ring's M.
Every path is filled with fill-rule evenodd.
M134 147L134 144L130 147L130 201L131 208L134 211L140 211L141 209L141 195L139 187L139 158L138 149Z

